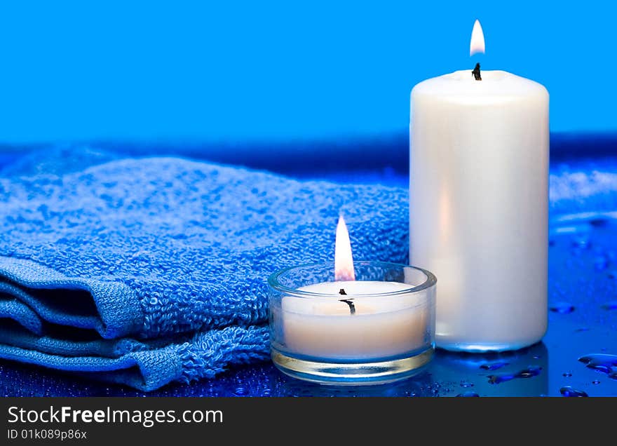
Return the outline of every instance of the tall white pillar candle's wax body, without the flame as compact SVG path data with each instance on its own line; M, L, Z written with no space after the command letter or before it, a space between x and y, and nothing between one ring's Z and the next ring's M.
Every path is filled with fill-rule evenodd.
M548 92L501 71L411 97L410 257L437 276L438 346L506 350L547 327Z

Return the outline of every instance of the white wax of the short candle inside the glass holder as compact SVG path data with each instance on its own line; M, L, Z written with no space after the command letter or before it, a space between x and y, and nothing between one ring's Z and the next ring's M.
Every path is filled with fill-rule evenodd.
M398 282L340 281L317 283L301 291L347 295L323 298L285 296L281 302L284 349L315 358L350 360L403 355L430 343L429 291L395 296L375 293L408 290ZM340 299L353 298L355 314Z

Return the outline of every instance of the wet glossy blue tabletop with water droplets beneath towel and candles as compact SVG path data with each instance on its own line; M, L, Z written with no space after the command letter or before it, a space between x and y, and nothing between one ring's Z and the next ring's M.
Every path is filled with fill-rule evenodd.
M613 145L613 147L616 147ZM152 393L0 361L6 396L617 396L617 160L560 158L551 165L549 330L522 351L470 355L438 351L413 379L365 388L333 388L285 377L270 363L240 367L190 386ZM311 170L298 177L402 185L398 165ZM501 367L499 367L501 365ZM595 366L590 368L588 365ZM612 377L611 377L612 374Z

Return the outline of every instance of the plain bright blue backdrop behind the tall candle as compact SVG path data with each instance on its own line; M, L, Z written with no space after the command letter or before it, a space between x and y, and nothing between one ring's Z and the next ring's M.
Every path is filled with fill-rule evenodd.
M200 4L201 3L201 4ZM405 131L415 83L473 67L551 93L551 130L617 130L609 1L20 1L0 6L0 142L295 141Z

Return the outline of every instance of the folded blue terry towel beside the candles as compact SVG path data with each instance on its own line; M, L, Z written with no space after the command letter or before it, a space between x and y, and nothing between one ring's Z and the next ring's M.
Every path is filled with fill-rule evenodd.
M213 377L269 358L266 279L332 260L340 212L356 259L407 262L405 189L90 152L0 172L0 358L146 391Z

